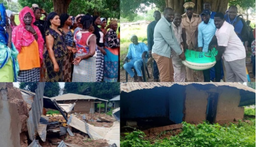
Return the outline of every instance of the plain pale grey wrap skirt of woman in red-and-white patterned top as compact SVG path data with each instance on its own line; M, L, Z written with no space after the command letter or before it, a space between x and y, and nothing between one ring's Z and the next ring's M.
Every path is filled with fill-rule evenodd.
M85 55L76 53L76 57ZM72 82L96 82L96 58L81 60L78 65L74 65Z

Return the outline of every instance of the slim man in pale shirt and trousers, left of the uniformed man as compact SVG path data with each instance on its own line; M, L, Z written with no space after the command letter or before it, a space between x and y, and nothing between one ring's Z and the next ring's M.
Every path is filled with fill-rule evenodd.
M186 32L183 32L183 25L181 24L181 14L175 13L174 19L172 21L172 29L175 34L175 37L178 41L179 46L182 51L186 45L186 41L183 42L183 39L186 40ZM185 35L185 38L184 38ZM184 52L184 51L183 51ZM175 82L185 82L186 80L186 66L182 63L181 58L173 49L171 49L172 65L174 69L174 81Z

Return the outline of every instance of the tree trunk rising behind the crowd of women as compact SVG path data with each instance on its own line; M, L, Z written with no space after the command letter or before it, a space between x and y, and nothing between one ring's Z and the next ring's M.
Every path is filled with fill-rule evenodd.
M58 15L67 13L70 2L71 0L53 0L54 12L58 13Z

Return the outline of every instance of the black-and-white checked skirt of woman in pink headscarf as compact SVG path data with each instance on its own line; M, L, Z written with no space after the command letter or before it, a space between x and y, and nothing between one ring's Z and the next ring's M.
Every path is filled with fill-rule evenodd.
M40 68L19 71L18 82L38 82L40 81Z

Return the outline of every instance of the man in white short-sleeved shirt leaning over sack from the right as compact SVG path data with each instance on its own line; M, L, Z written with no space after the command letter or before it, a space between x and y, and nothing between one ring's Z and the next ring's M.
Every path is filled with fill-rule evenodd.
M218 44L218 55L216 60L224 59L226 68L226 82L248 82L245 66L245 47L240 38L234 32L234 27L227 23L223 13L216 13L214 17L216 33L209 44Z

